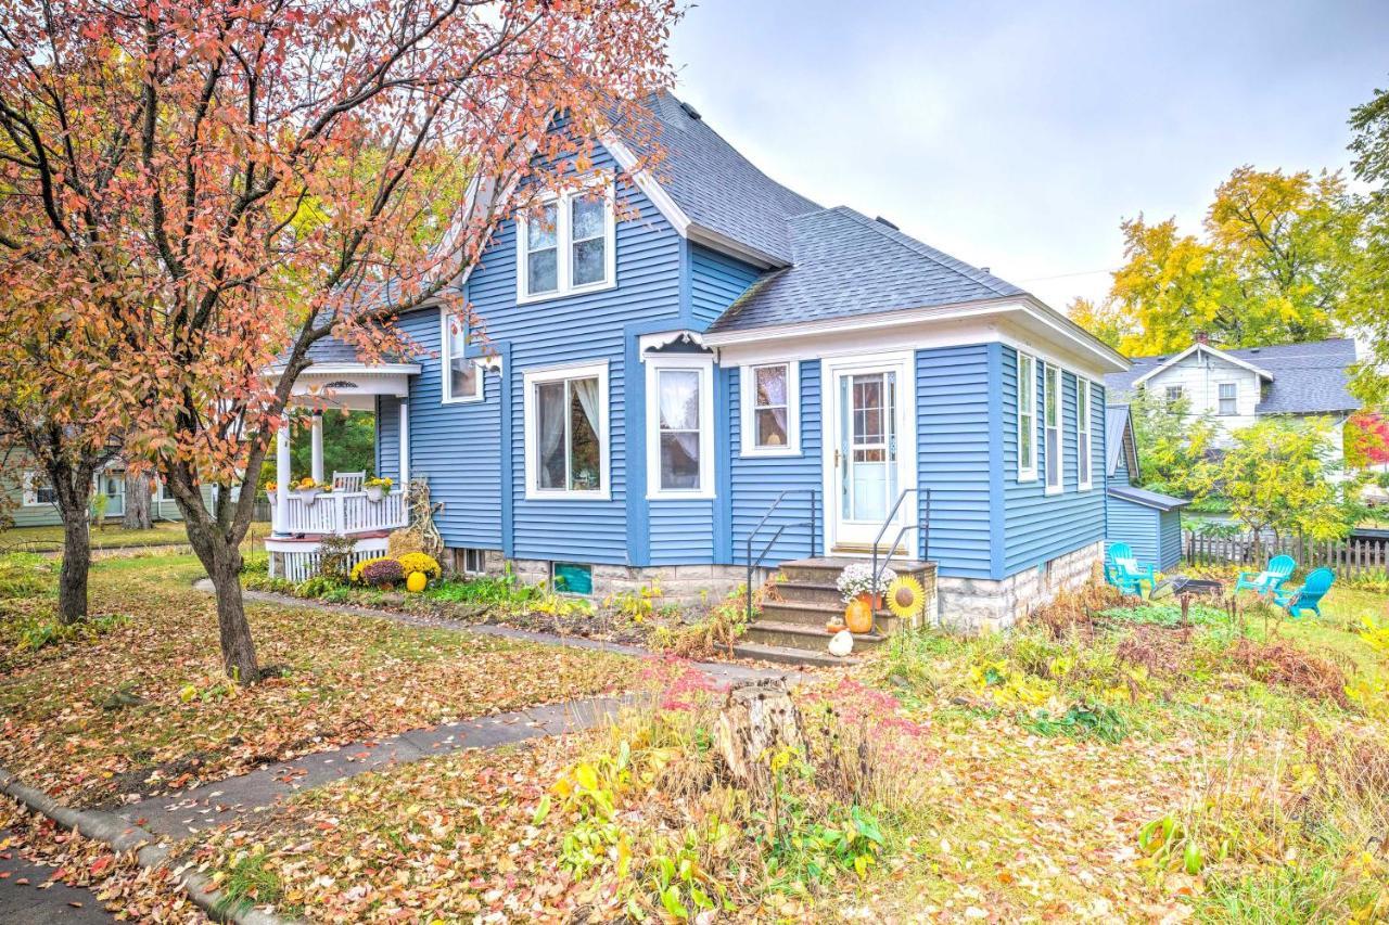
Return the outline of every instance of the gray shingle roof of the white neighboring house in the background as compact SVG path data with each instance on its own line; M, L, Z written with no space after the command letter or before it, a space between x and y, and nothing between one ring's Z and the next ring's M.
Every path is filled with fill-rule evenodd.
M1276 347L1220 349L1274 376L1265 383L1258 414L1333 414L1360 407L1347 390L1347 367L1356 362L1356 342L1349 338L1289 343ZM1128 372L1104 376L1111 394L1126 394L1133 381L1145 376L1176 354L1138 357Z

